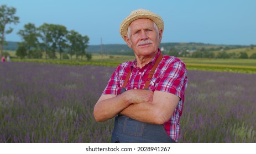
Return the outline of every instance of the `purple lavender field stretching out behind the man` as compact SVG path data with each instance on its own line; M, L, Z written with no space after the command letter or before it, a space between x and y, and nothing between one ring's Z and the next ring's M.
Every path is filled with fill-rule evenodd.
M0 142L109 142L93 106L113 67L0 63ZM189 70L179 142L256 142L256 74Z

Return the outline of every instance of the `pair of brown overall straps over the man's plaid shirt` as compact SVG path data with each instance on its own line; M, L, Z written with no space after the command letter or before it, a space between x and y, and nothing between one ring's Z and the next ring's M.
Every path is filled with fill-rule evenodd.
M148 89L150 80L151 80L152 76L154 75L155 69L158 67L158 64L161 62L162 58L163 58L163 54L159 54L158 59L156 59L154 66L152 67L152 69L149 72L149 75L148 75L147 81L145 83L144 89ZM128 80L130 78L130 74L131 73L132 73L132 70L129 70L129 72L128 72L127 76L126 76L126 80L124 80L122 91L123 90L125 91L126 84L128 83Z

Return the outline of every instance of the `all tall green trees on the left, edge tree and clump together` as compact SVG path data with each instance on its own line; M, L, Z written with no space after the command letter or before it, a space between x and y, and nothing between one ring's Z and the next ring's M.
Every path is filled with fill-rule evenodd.
M1 35L1 55L3 55L4 36L13 31L10 27L6 30L7 24L19 23L19 17L15 16L16 9L2 5L0 7L0 35ZM18 43L16 55L20 58L57 58L56 53L60 54L60 59L79 56L86 56L91 59L91 53L86 53L88 47L88 36L82 36L75 30L67 30L64 25L48 24L36 27L33 23L24 25L24 29L17 33L22 37L22 42ZM67 55L69 54L69 56Z

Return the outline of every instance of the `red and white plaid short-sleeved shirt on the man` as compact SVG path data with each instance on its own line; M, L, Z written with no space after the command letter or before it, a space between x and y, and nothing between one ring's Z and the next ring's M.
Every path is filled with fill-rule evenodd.
M120 64L112 74L111 79L109 79L108 85L102 95L121 94L121 89L129 70L132 70L132 73L126 85L126 90L144 89L149 71L153 67L160 53L160 50L158 50L158 53L152 61L141 69L137 67L136 59L133 62L124 62ZM179 122L184 104L186 86L187 70L185 64L176 57L164 55L150 81L149 90L169 92L180 97L180 101L174 110L173 116L171 116L170 120L164 124L166 132L174 141L177 141L180 135Z

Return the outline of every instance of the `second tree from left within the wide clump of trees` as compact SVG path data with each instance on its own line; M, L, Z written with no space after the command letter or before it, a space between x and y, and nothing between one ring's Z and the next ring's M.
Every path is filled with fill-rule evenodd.
M45 59L47 59L50 52L53 39L51 38L51 25L44 23L38 27L39 38L41 40L40 48L45 51Z

